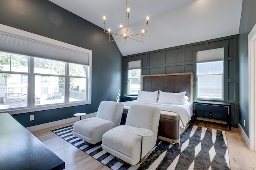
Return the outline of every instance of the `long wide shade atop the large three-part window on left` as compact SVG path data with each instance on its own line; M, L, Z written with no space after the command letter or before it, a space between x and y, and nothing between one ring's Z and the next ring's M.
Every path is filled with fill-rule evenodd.
M92 51L0 24L0 51L89 65Z

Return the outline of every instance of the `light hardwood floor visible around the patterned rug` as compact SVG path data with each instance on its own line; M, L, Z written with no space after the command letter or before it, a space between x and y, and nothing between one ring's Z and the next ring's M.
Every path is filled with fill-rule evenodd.
M102 163L50 131L73 123L35 131L32 134L65 162L66 170L109 170ZM221 125L202 122L196 122L194 125L226 131L231 170L256 170L256 152L248 149L238 129L232 128L232 133L230 133L228 127Z

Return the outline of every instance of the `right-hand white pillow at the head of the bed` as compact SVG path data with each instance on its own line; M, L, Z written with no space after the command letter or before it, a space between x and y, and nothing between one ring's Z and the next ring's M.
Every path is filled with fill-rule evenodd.
M184 97L186 92L180 93L168 93L162 92L159 90L159 99L158 103L166 103L166 104L182 104L184 105Z

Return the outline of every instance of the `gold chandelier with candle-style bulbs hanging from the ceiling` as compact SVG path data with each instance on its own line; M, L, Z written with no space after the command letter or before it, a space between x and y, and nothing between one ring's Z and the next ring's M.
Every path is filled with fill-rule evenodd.
M147 18L146 18L146 20L147 20L147 22L146 22L146 32L144 31L144 29L142 29L142 32L141 32L141 33L137 33L137 34L133 34L133 35L128 35L128 28L129 28L129 12L130 12L130 8L127 8L127 0L126 0L125 9L126 9L126 11L125 11L126 17L125 17L125 33L124 33L124 35L120 35L120 34L116 34L116 33L111 33L111 32L110 32L110 29L108 29L108 31L106 31L106 29L105 29L105 20L106 20L106 17L105 17L105 16L103 17L104 32L105 32L105 33L108 33L108 41L111 42L111 41L115 41L115 40L124 38L124 43L125 43L126 39L129 38L129 39L133 39L133 40L135 40L135 41L138 41L138 42L141 42L141 43L142 43L142 42L143 42L144 34L147 33L147 31L148 31L148 16L147 16ZM121 25L120 25L120 26L121 26ZM112 35L118 35L118 36L121 36L121 37L120 37L120 38L117 38L117 39L112 39L112 40L110 40L110 34L112 34ZM137 39L131 38L131 37L134 36L134 35L142 35L142 39L141 39L141 40L137 40Z

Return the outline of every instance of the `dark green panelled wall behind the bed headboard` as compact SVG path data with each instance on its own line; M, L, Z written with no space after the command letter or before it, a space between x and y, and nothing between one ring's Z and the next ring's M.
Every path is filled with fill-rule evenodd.
M196 51L224 47L224 99L231 104L232 127L239 123L238 35L211 39L123 57L122 94L127 94L128 61L141 60L142 74L165 74L196 71ZM194 93L196 93L194 76ZM194 94L194 96L196 96Z

